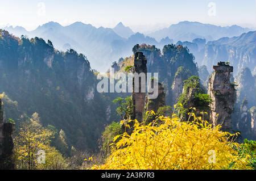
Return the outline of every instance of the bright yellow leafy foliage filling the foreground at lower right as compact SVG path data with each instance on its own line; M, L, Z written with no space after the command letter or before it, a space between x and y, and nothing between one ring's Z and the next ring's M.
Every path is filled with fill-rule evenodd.
M236 151L237 134L192 117L188 122L162 116L147 125L130 120L133 132L116 136L106 163L92 169L251 169L250 156Z

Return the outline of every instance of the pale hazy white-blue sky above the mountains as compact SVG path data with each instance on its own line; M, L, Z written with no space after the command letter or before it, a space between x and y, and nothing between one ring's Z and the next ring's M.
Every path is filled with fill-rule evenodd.
M256 27L256 0L0 0L0 26L34 30L49 21L152 31L183 21Z

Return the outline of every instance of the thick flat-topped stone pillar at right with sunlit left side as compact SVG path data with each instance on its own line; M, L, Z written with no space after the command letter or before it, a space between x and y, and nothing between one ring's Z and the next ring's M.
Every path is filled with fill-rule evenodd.
M232 128L232 112L236 102L236 90L230 83L230 73L233 67L219 62L213 66L214 72L210 76L208 94L212 99L210 103L210 121L213 125L222 124L224 131Z

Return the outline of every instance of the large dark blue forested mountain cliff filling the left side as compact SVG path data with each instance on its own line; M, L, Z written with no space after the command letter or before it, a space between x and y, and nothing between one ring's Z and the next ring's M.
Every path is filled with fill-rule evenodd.
M7 119L19 122L21 114L38 112L44 126L63 129L69 146L97 149L95 143L108 115L96 85L83 54L73 49L59 52L51 41L19 39L1 31L0 92L5 92L19 110L6 102Z

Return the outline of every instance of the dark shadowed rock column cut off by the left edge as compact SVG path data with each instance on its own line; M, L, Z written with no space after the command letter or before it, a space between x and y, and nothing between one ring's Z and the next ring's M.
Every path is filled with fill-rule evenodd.
M13 130L13 124L3 121L3 103L0 99L0 170L14 169Z

